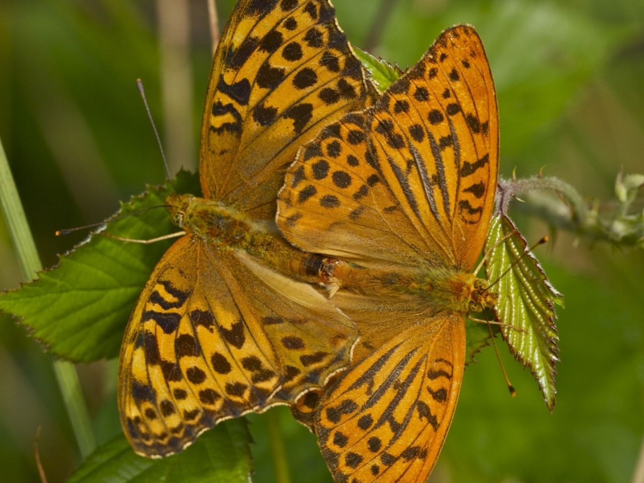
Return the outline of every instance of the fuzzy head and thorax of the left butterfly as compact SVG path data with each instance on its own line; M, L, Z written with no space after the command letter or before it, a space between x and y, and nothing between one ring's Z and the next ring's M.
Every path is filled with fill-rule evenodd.
M242 247L251 238L252 230L243 214L220 202L192 194L171 194L166 206L178 227L219 247Z

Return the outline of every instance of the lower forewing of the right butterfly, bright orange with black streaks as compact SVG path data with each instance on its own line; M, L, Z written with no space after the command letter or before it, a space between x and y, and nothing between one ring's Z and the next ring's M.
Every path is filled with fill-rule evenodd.
M456 409L464 347L463 317L441 314L404 330L330 384L315 419L336 482L427 479Z

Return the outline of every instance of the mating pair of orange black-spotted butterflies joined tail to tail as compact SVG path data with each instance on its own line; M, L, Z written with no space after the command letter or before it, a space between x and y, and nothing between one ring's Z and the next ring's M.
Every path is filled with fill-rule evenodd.
M473 28L443 32L380 95L328 1L240 1L211 71L204 198L168 198L187 234L124 336L118 405L135 451L170 455L218 421L297 401L336 481L424 480L459 394L463 314L495 303L469 272L497 167Z

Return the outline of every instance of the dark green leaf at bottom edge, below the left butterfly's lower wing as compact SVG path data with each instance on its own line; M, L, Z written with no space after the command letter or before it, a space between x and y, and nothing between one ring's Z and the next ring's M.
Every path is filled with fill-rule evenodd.
M250 443L243 418L218 424L181 453L164 459L138 456L119 435L94 451L67 483L248 483Z

